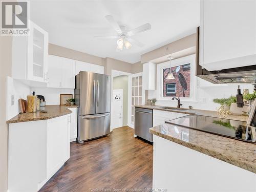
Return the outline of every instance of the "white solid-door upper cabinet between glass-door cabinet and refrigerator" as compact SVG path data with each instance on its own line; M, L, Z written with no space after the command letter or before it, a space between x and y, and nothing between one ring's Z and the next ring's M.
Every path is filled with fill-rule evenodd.
M75 88L75 60L49 55L49 88Z

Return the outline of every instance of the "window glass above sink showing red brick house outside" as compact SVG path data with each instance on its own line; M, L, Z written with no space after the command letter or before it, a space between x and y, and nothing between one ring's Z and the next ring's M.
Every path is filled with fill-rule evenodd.
M172 67L175 79L166 79L169 71L163 69L163 97L190 97L190 63Z

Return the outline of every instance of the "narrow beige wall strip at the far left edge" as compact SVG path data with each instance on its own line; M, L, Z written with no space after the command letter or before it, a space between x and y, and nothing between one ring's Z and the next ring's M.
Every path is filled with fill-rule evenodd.
M12 37L0 36L0 191L7 191L8 129L6 124L6 77L11 76Z

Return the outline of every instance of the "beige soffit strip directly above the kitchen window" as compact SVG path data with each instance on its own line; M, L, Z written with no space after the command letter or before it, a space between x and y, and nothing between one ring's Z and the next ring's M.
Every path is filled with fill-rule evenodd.
M188 50L188 52L191 52L189 50L192 47L196 46L197 42L197 34L191 34L184 38L181 38L179 40L176 40L174 42L171 42L170 44L167 44L165 46L162 46L158 49L155 49L153 51L147 52L143 55L141 55L141 63L145 63L148 61L153 61L154 59L170 55L177 52L183 52L184 50ZM187 52L184 53L184 55L187 55ZM193 53L191 53L193 54ZM182 55L179 55L181 57Z

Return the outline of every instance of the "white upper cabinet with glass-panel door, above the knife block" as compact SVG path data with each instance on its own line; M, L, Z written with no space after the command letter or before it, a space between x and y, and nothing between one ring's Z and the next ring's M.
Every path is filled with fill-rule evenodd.
M12 77L47 82L48 33L30 22L30 35L13 36Z

